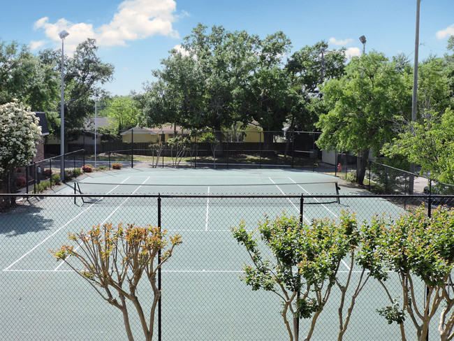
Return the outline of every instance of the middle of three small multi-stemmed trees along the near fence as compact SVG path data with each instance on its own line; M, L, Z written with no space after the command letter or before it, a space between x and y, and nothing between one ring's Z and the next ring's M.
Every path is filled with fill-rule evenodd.
M363 238L361 231L365 229L359 227L355 215L343 212L339 222L314 219L303 224L299 217L284 212L274 220L265 217L256 231L248 233L244 222L230 229L252 261L244 265L241 280L253 290L264 289L281 298L281 314L290 340L298 340L298 319L302 318L309 319L305 340L312 338L317 318L335 288L341 291L337 340L342 340L360 291L369 277L381 273L370 253L361 252L365 240L372 238ZM263 256L264 249L272 256ZM349 262L349 271L339 278L343 259ZM351 274L356 260L363 271L355 282ZM351 286L353 289L349 289ZM349 303L347 291L351 292Z

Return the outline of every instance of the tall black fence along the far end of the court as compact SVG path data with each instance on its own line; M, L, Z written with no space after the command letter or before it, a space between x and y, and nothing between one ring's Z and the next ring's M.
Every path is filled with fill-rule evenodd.
M131 164L148 161L163 166L314 166L321 160L320 133L308 131L82 131L68 150L85 150L87 159ZM208 140L207 135L217 140ZM175 140L175 138L177 138ZM265 138L268 143L265 143ZM144 142L144 140L147 140ZM221 141L221 142L219 142ZM58 145L45 145L57 154Z

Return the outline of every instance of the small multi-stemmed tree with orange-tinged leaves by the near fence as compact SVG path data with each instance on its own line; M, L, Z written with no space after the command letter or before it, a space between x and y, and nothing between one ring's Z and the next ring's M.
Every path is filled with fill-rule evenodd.
M158 270L173 254L173 249L182 243L181 235L166 238L167 231L154 226L112 223L91 227L88 231L68 233L75 245L62 245L51 251L57 261L64 261L82 276L107 302L117 307L123 315L124 327L129 341L133 341L130 314L127 302L133 304L145 335L151 341L154 330L154 313L161 298L157 285ZM159 258L159 252L162 252ZM82 268L80 268L82 267ZM145 277L152 289L149 311L143 298L139 300L140 280ZM142 287L141 287L142 288ZM148 296L148 295L147 295Z

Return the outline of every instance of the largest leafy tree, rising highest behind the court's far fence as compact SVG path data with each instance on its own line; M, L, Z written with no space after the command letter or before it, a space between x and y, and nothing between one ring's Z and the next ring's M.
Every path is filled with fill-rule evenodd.
M180 124L190 129L221 129L247 115L237 106L238 89L254 67L257 38L244 31L198 24L184 38L182 50L172 50L154 71L156 82L146 87L142 122Z

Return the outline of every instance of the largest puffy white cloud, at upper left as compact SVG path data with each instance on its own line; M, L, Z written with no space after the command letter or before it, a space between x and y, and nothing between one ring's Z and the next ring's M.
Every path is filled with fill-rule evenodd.
M156 34L179 38L172 27L177 20L176 6L175 0L126 0L119 4L112 20L101 27L85 22L73 23L64 18L51 23L48 17L42 17L35 22L34 28L44 29L46 36L55 43L60 41L59 32L66 29L69 32L65 38L67 52L74 51L78 43L87 38L95 38L98 46L124 46L128 41Z

